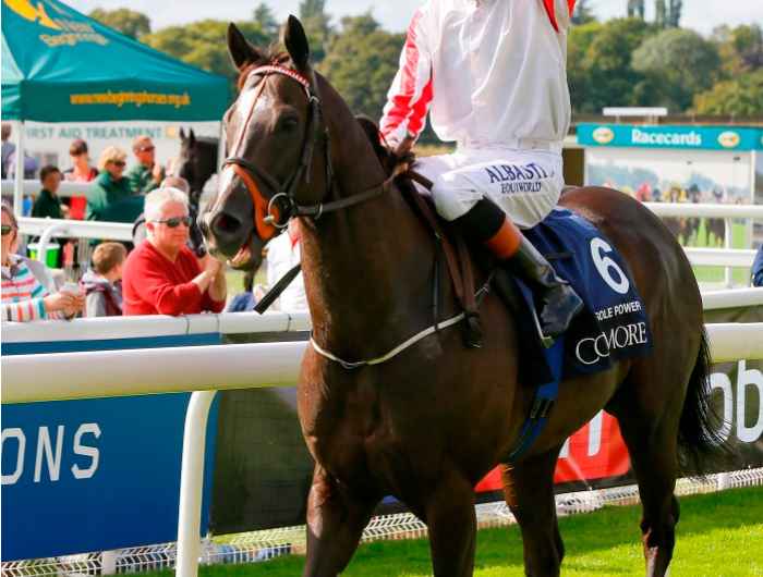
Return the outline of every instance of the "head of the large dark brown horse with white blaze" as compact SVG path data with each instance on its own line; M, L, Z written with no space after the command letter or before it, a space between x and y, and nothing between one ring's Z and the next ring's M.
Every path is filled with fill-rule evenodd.
M239 269L257 267L292 207L314 205L326 191L325 126L307 38L293 16L283 41L286 53L268 54L228 28L239 96L223 116L227 159L201 226L210 253Z

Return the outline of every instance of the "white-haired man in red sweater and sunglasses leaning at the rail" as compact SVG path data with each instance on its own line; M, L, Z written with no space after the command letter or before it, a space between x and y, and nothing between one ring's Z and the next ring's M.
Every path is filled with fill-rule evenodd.
M145 214L147 238L124 263L124 315L220 312L226 275L218 260L199 260L187 247L187 196L177 188L153 191Z

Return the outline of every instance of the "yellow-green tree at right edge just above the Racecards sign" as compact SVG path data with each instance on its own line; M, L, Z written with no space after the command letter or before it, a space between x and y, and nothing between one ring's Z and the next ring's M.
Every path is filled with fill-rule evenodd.
M763 69L716 84L694 97L698 114L763 115Z

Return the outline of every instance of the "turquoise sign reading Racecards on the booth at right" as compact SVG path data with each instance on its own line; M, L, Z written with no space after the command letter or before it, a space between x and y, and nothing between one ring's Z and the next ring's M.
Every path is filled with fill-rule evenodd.
M763 150L763 130L742 126L579 124L578 143L584 146L749 151Z

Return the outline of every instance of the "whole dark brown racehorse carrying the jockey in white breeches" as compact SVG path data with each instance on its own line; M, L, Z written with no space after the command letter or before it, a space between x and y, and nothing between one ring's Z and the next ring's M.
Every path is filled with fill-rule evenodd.
M420 332L432 324L435 274L441 318L459 310L435 265L436 240L380 160L378 142L312 69L293 16L283 41L286 52L267 53L229 26L239 95L223 116L230 157L202 229L214 256L251 268L277 228L300 219L313 332L298 408L315 459L304 575L342 572L386 495L427 525L436 576L472 575L473 488L496 466L521 528L526 574L559 575L555 465L565 440L603 407L619 420L639 483L646 575L665 575L679 517L679 449L698 456L714 442L702 302L681 247L619 192L564 195L561 204L604 231L630 267L654 346L649 356L565 380L546 428L509 459L533 398L532 383L519 381L518 344L533 335L519 333L518 314L493 292L480 305L481 348L467 348L456 326ZM415 343L393 354L412 335Z

